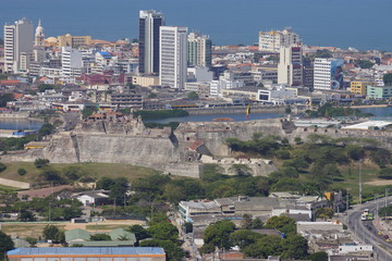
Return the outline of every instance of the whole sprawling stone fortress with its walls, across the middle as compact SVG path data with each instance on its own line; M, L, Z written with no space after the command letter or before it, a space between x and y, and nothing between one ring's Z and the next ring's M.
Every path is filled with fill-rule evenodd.
M247 122L188 122L173 132L146 128L140 117L90 119L79 122L74 130L53 135L44 149L5 154L1 161L34 161L45 158L53 163L103 162L147 166L167 174L198 177L205 163L218 163L228 174L232 164L247 164L254 175L268 175L277 170L269 160L232 158L226 138L249 140L254 133L278 135L293 141L309 134L333 138L373 138L392 148L392 132L340 128L296 127L285 119Z

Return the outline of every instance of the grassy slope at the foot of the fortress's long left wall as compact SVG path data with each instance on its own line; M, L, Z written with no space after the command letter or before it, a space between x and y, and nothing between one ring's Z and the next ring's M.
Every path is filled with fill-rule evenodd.
M0 173L0 177L9 178L19 182L36 182L41 170L37 169L33 162L11 162L5 163L7 169ZM136 166L131 164L123 164L123 163L50 163L51 167L57 171L62 172L64 169L69 166L77 166L82 170L83 173L87 175L99 178L102 176L110 176L110 177L120 177L124 176L128 179L134 179L138 177L143 177L146 175L158 173L152 169ZM19 169L25 169L27 173L24 176L17 174ZM0 187L1 189L1 187Z

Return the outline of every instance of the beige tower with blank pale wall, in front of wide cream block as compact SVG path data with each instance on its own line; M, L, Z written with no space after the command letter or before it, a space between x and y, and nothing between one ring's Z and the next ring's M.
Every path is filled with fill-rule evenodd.
M278 84L301 86L303 84L302 48L281 47L278 64Z

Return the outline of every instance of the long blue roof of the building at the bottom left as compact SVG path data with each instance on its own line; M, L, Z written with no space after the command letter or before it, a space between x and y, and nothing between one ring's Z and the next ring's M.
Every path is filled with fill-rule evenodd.
M76 247L76 248L16 248L8 256L46 256L46 254L164 254L163 248L157 247Z

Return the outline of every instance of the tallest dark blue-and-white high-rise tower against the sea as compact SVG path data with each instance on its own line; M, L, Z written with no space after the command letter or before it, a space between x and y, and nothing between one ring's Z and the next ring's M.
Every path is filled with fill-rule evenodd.
M162 13L139 12L139 73L159 73L159 27L163 25Z

